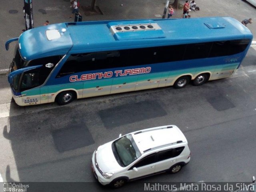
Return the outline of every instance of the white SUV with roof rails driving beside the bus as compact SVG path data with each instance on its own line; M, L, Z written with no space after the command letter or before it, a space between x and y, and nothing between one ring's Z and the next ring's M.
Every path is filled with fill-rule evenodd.
M189 161L186 137L177 126L168 125L120 134L99 146L92 155L92 171L102 185L118 188L146 176L176 173Z

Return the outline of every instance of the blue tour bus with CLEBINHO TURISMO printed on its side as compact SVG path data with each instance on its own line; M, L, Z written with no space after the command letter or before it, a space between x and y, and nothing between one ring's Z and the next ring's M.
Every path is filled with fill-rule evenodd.
M8 81L26 106L232 76L252 33L230 17L67 22L18 38Z

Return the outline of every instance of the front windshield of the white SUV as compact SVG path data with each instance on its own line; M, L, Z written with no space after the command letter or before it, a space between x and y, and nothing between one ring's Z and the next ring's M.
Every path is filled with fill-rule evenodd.
M118 156L115 156L116 160L117 162L121 161L123 166L128 166L141 156L141 153L131 134L123 136L122 138L116 140L113 144L115 146L114 149L118 154ZM115 154L115 151L113 152ZM120 158L120 161L118 158Z

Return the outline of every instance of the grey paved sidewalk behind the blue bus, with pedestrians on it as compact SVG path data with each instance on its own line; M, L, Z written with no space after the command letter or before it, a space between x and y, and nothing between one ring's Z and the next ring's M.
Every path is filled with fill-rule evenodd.
M1 49L0 49L0 73L9 68L13 58L14 43L10 44L10 50L6 51L4 44L6 40L18 37L21 30L25 28L24 14L22 12L23 4L20 0L7 1L0 7L0 22L2 30L0 31ZM172 2L172 0L170 1ZM185 0L180 0L183 4ZM83 21L92 20L122 20L122 19L148 19L162 18L166 0L97 0L97 6L102 15L86 16L84 9L90 6L91 0L80 0L80 13ZM237 20L244 18L253 18L256 20L255 8L241 0L196 0L200 11L191 11L191 17L208 16L231 16ZM72 10L70 9L70 0L32 0L34 27L42 26L46 20L50 24L73 21L68 19ZM17 10L16 14L10 14L10 10ZM167 15L167 14L166 14ZM181 18L182 10L175 10L172 18ZM256 34L255 24L249 24L248 28L253 34ZM188 35L189 35L189 29Z

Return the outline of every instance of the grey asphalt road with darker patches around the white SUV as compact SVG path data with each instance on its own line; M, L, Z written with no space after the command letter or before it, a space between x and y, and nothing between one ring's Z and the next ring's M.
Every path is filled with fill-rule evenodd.
M80 184L90 191L106 190L90 170L98 146L119 133L175 124L188 139L190 163L177 174L144 178L122 190L144 182L250 181L256 175L255 55L250 48L232 78L203 86L100 96L66 106L12 102L8 116L0 118L0 173L8 182L86 182Z

